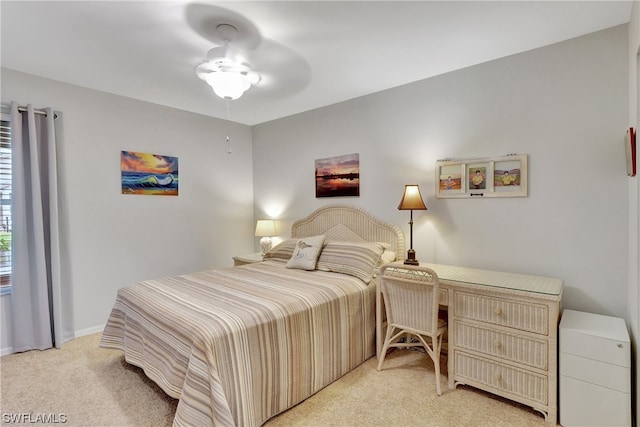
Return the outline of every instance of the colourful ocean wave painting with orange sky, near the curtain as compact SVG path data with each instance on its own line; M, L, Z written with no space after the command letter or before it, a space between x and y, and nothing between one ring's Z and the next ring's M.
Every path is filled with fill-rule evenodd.
M122 194L178 195L178 158L159 154L120 152Z

